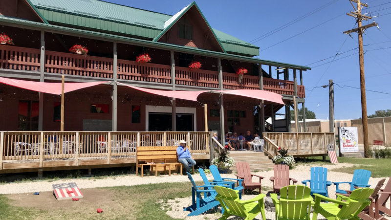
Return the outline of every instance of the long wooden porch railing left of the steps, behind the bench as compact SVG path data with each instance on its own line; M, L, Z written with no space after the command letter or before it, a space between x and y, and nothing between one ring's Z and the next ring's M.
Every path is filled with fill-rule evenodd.
M177 146L209 153L209 132L0 132L0 169L4 161L111 159L135 156L138 146Z

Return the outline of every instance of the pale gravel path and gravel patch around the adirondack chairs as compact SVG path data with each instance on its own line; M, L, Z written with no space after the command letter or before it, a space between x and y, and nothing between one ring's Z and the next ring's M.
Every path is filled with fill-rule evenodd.
M290 171L290 177L297 179L299 182L308 179L310 176L310 165L299 165L295 169ZM341 164L330 164L323 165L327 169L334 169L340 167L352 167L352 169L356 169L352 164L341 163ZM262 186L268 186L270 188L273 187L273 183L269 180L270 176L274 175L272 170L270 171L262 171L255 173L260 176L264 176L265 178L262 180ZM235 178L234 174L223 174L223 177L231 177ZM195 181L201 181L201 177L199 175L193 176ZM336 181L349 181L353 177L352 174L339 173L329 171L327 174L327 180L331 182ZM212 175L208 174L209 179L213 179ZM375 186L377 182L381 178L370 178L369 184ZM66 182L76 182L80 189L86 188L95 188L95 187L111 187L111 186L132 186L132 185L140 185L140 184L149 184L149 183L164 183L164 182L187 182L189 181L187 176L181 175L161 175L161 176L144 176L139 177L135 175L128 176L116 176L116 177L107 177L102 179L93 179L93 178L82 178L82 179L65 179L65 180L56 180L56 181L33 181L33 182L21 182L21 183L7 183L0 185L0 194L18 194L18 193L31 193L31 192L43 192L43 191L52 191L52 184L58 183L66 183ZM253 181L259 181L258 177L254 177ZM386 180L388 181L388 179ZM348 189L348 184L343 184L342 189ZM190 190L190 189L189 189ZM262 192L265 193L265 192ZM330 198L335 198L335 185L331 185L328 188L328 193ZM251 196L243 196L243 199L252 198ZM191 198L177 198L170 201L171 211L168 211L168 214L175 218L185 218L188 212L183 212L181 207L188 206L191 203ZM389 202L387 206L390 206ZM210 215L210 216L209 216ZM218 214L207 214L201 215L198 217L191 217L191 219L216 219L219 217ZM274 219L274 212L267 212L266 217L268 219ZM188 219L189 217L186 217ZM189 218L190 219L190 218ZM318 216L319 219L319 216Z

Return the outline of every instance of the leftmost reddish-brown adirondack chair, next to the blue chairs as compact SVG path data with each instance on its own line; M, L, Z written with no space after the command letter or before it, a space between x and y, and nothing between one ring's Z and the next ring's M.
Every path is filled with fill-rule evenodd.
M235 163L236 169L238 170L238 174L235 174L238 178L244 179L242 182L243 191L242 195L244 195L244 189L259 189L261 194L261 180L264 178L263 176L258 176L250 173L250 165L248 162L237 162ZM260 178L260 182L252 182L252 177L257 176Z

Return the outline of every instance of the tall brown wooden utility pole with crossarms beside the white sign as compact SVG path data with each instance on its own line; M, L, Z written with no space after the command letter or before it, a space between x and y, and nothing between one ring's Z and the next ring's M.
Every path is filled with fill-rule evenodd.
M357 9L354 7L353 3L357 3ZM360 0L350 0L350 4L353 6L354 11L347 13L348 16L352 16L356 19L358 27L345 31L344 34L350 34L352 32L358 33L358 49L359 49L359 58L360 58L360 88L361 88L361 112L363 116L363 132L364 132L364 155L369 157L372 155L369 152L369 137L368 137L368 116L367 116L367 98L365 94L365 75L364 75L364 51L363 51L363 32L365 29L373 26L377 26L377 23L373 22L367 25L362 26L361 22L363 20L368 21L372 17L361 14L361 6L368 7L368 4L361 3Z

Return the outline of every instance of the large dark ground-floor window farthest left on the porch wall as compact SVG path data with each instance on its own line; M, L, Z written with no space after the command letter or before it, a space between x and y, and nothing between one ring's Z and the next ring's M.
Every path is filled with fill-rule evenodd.
M38 101L19 101L18 130L38 131Z

